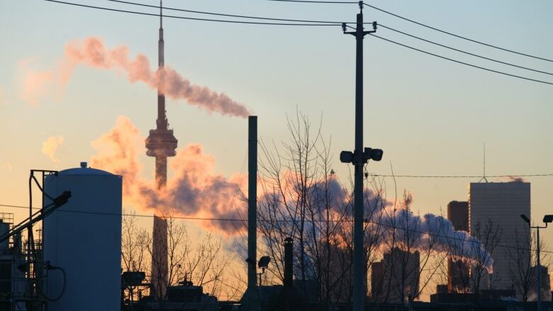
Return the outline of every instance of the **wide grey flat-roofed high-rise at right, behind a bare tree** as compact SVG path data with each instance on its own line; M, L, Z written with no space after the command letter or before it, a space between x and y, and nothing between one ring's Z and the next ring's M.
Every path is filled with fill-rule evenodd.
M520 219L520 214L530 217L530 183L470 183L469 184L469 228L472 236L484 243L497 244L493 248L493 274L489 283L481 283L480 288L494 290L512 290L510 278L512 256L508 251L517 247L530 249L530 228ZM486 241L489 230L498 229L500 237L495 241ZM520 244L520 241L528 241ZM489 249L489 247L488 247ZM484 279L485 282L486 279Z

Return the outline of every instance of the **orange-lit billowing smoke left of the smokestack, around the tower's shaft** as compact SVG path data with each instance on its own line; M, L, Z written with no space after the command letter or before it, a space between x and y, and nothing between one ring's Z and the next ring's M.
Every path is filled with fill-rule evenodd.
M218 218L203 221L204 227L230 233L242 226L238 210L245 179L230 179L215 173L215 159L197 144L177 151L170 163L174 176L158 191L154 181L141 176L138 156L144 151L144 137L128 118L118 117L116 126L92 142L97 150L91 166L123 176L123 201L133 207L175 216Z

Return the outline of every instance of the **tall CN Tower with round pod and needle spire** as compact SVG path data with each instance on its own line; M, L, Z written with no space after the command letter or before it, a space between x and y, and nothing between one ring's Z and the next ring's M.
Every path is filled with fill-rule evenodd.
M173 130L169 130L169 123L165 114L162 1L160 1L160 40L157 43L157 48L157 120L155 121L155 130L150 130L150 135L146 139L146 154L149 157L155 157L155 184L159 191L167 184L167 157L174 157L175 149L177 149L177 138L174 137ZM160 209L154 215L152 232L150 283L152 283L152 295L155 298L160 299L165 295L167 273L167 220L164 218L163 210Z

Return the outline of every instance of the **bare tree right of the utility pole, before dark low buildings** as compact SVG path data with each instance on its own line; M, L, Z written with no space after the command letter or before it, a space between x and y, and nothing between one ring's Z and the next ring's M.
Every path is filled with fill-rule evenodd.
M419 217L410 205L413 198L407 191L398 208L384 210L382 241L384 280L380 302L412 305L436 278L440 278L442 261L447 257L442 237L447 220L434 215ZM424 230L423 230L424 228Z

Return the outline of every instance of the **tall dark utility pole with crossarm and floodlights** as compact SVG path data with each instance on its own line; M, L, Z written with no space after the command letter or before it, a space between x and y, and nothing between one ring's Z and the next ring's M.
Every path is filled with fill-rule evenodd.
M372 30L363 30L363 1L359 1L359 13L354 31L347 32L347 25L342 24L345 34L354 35L355 50L355 149L354 152L342 151L340 161L354 165L354 222L353 222L353 310L364 311L365 288L367 274L365 273L366 256L364 251L364 210L363 210L363 166L369 159L380 161L381 149L363 148L363 38L376 32L376 22Z

